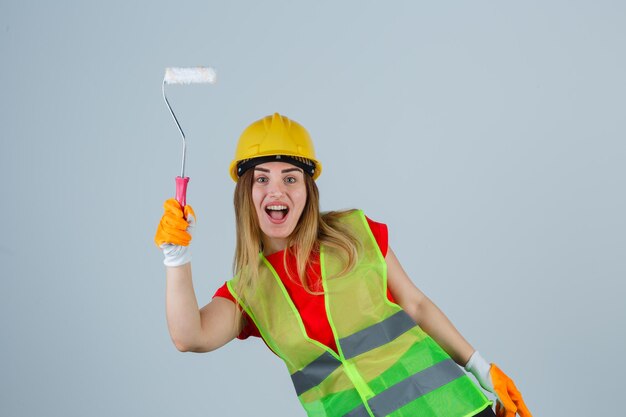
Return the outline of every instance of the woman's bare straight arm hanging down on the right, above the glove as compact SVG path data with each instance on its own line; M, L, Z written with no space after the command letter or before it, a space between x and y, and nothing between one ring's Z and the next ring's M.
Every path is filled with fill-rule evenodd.
M413 284L391 248L387 261L387 285L391 295L404 311L428 333L459 365L464 366L474 348L463 338L452 322Z

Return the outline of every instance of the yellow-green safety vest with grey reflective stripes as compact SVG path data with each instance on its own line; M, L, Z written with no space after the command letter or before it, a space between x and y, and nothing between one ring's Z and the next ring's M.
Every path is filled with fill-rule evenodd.
M490 402L402 307L387 298L387 264L361 211L342 223L362 247L356 267L337 277L342 259L322 247L326 312L338 353L311 339L272 265L260 256L259 279L228 288L285 361L310 417L465 417Z

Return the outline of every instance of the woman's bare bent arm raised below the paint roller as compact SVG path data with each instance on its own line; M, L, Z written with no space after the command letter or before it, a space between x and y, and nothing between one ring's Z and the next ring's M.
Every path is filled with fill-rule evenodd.
M170 336L181 352L210 352L241 331L241 313L222 297L198 308L191 279L191 262L166 267L166 315Z

